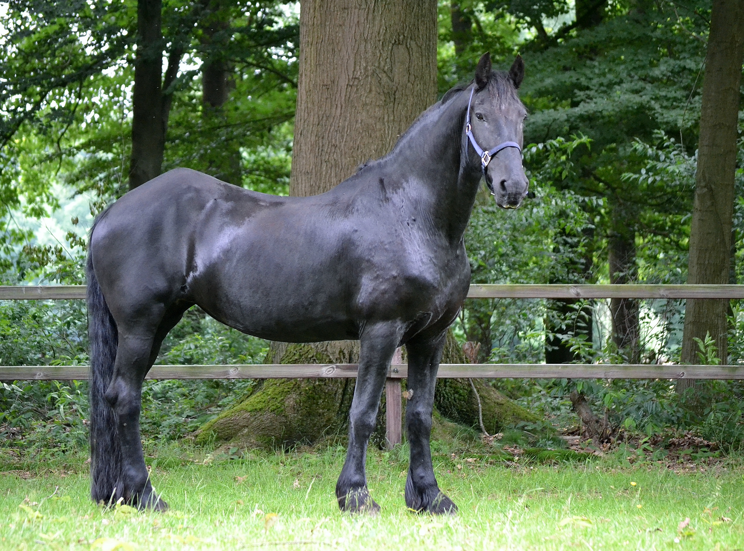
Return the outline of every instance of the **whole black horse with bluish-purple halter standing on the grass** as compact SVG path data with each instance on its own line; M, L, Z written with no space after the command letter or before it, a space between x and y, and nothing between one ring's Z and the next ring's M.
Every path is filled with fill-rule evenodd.
M405 503L455 512L429 450L434 382L470 282L463 235L478 183L485 175L501 207L527 193L523 75L521 57L503 72L485 54L472 83L420 115L392 152L318 196L264 195L178 169L101 213L87 267L93 499L167 507L142 454L141 386L167 332L198 304L272 341L361 341L336 484L344 511L379 509L365 457L391 358L405 344L414 390Z

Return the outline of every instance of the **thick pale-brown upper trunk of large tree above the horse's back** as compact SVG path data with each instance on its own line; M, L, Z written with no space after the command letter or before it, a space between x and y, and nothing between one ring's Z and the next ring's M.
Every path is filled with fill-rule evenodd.
M384 155L436 93L434 0L303 2L290 195Z

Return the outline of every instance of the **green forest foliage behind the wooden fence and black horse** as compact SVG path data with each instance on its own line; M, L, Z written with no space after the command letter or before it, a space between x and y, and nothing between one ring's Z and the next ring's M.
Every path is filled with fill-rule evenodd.
M466 233L474 283L685 282L710 10L706 0L439 2L440 95L469 80L484 51L501 68L522 54L527 67L520 95L530 112L525 167L534 197L507 212L487 193L478 196ZM93 216L127 190L137 4L12 0L0 3L0 14L0 283L82 284ZM229 173L243 187L288 193L298 14L298 4L268 0L163 1L161 57L165 65L178 56L164 90L171 104L163 171ZM216 33L215 17L222 25ZM214 59L229 88L217 115L202 88L205 64ZM739 120L731 283L744 283L741 112ZM52 219L54 232L45 230ZM481 344L479 361L540 362L556 354L582 362L679 361L684 303L629 304L632 338L620 334L606 301L473 300L455 335ZM74 301L1 303L0 364L84 364L85 326ZM736 301L730 327L729 357L720 361L736 364L744 361L744 312ZM158 361L251 363L266 346L196 309L169 335ZM182 436L250 384L149 382L144 434ZM740 442L744 389L734 383L705 387L723 398L699 412L682 410L668 381L494 384L548 416L578 385L617 427L651 434L695 426L721 442ZM0 432L35 430L38 439L21 443L19 436L16 445L39 448L83 442L84 387L7 382Z

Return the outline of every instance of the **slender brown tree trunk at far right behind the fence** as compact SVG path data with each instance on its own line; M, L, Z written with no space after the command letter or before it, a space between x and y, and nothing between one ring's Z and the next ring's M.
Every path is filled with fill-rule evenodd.
M728 283L743 57L744 2L713 0L687 283ZM699 363L694 338L704 339L708 332L726 362L727 309L728 300L687 300L683 364ZM690 386L686 379L677 382L679 392Z

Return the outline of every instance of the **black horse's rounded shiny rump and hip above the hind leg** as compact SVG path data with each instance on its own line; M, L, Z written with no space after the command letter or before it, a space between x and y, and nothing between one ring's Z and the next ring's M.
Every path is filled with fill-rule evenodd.
M97 219L90 242L94 270L112 312L117 302L124 308L140 301L178 300L195 268L205 219L237 223L282 199L287 198L254 193L189 169L171 170L126 193Z

